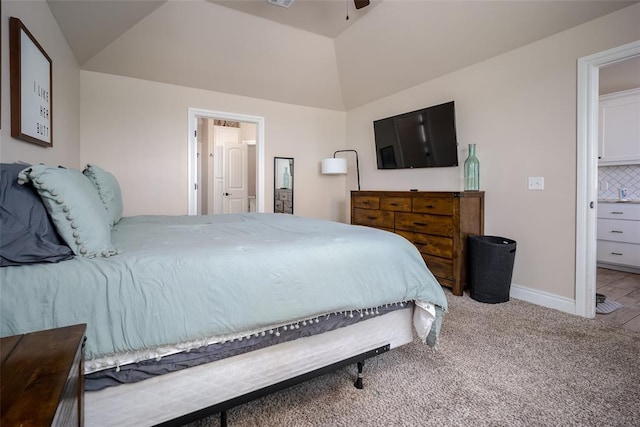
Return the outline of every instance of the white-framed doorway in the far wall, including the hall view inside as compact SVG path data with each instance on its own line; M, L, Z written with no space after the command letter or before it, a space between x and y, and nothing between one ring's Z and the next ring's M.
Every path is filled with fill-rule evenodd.
M264 118L189 109L189 215L264 212Z

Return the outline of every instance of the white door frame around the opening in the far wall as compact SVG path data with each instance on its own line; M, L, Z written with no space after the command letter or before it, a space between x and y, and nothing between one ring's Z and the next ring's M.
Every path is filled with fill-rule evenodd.
M201 108L189 108L188 115L188 214L197 215L198 212L198 146L196 138L196 130L198 129L198 117L253 123L256 125L256 210L257 212L264 212L264 117L228 113L223 111L204 110Z

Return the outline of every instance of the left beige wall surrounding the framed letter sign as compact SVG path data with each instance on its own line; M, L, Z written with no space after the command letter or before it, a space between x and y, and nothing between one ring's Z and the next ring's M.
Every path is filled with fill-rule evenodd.
M22 21L53 63L53 147L11 137L9 17ZM0 160L80 166L80 69L44 0L2 1L2 129Z

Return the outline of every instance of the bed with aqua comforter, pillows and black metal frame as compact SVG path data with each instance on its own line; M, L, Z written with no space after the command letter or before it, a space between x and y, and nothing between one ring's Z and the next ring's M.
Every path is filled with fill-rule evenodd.
M351 363L361 386L366 358L414 334L437 343L445 295L393 233L283 214L123 218L95 165L3 164L1 183L0 334L87 324L86 425L224 417ZM13 191L44 207L55 232L28 240L48 235L47 250L20 246L35 227L14 224L28 221Z

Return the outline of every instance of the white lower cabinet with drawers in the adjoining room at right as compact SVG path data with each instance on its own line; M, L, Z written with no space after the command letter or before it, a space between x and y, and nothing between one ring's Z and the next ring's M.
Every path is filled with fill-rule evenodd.
M597 260L640 268L640 204L598 203Z

